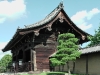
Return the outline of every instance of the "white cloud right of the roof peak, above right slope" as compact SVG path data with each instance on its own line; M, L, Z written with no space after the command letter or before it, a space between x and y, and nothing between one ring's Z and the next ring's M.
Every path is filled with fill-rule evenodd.
M75 15L71 17L72 21L77 24L82 30L87 30L92 27L92 24L88 24L88 20L90 20L93 16L100 13L100 10L97 8L93 8L90 11L79 11Z

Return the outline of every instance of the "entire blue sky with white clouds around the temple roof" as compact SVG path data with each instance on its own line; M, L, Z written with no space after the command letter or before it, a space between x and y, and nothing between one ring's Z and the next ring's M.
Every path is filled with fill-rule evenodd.
M45 18L62 0L0 0L1 49L13 37L16 29ZM82 30L94 34L100 23L100 0L63 0L64 10Z

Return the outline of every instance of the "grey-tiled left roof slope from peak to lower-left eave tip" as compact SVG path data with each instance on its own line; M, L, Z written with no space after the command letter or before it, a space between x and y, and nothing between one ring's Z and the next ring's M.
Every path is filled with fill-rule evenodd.
M25 25L25 28L18 27L13 38L9 41L9 43L5 46L5 48L2 49L2 51L6 51L6 49L9 47L9 45L11 45L13 43L13 41L16 39L16 36L19 36L19 34L17 35L17 33L19 33L21 30L28 29L28 28L34 28L34 27L41 26L41 25L44 25L44 24L50 22L53 18L55 18L57 16L57 14L60 12L61 9L63 9L63 7L64 7L63 2L60 2L60 4L49 15L47 15L43 20L41 20L35 24Z

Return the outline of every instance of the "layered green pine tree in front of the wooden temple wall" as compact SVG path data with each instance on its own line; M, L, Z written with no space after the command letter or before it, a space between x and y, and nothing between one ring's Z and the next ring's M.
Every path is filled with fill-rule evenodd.
M78 39L72 33L64 33L58 36L57 52L51 58L53 65L68 64L68 73L70 74L69 61L75 61L76 57L81 55L78 49Z

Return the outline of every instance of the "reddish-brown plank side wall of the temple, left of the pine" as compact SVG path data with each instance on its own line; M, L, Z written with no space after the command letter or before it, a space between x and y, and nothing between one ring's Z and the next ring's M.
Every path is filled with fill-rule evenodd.
M35 45L36 51L36 63L37 63L37 70L50 70L49 67L49 56L56 51L56 40L55 35L44 35L48 36L45 39L42 35L42 42ZM40 39L37 39L39 41ZM36 42L36 41L35 41ZM46 43L45 45L43 43Z

